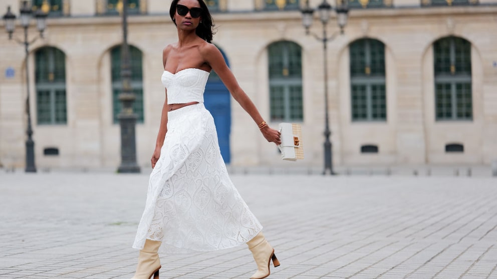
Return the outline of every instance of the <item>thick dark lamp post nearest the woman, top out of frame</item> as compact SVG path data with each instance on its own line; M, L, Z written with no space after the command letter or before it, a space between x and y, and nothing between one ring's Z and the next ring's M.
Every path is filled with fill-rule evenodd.
M136 137L135 126L137 115L133 112L133 101L135 94L131 88L131 66L128 45L128 0L122 0L123 42L121 47L121 79L122 91L119 100L122 102L119 113L119 125L121 127L121 165L118 172L135 173L140 172L136 163Z

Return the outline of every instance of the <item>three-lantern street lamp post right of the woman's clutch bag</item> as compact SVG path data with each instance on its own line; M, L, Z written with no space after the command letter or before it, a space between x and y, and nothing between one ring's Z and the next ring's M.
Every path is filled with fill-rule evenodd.
M324 143L324 151L325 151L325 167L323 170L323 174L329 172L330 174L335 174L333 171L333 159L332 159L332 148L330 141L330 120L328 115L328 56L327 56L327 44L328 41L333 40L338 32L333 33L330 37L328 37L328 33L326 27L328 25L328 21L331 17L331 5L327 0L323 0L323 2L318 6L319 17L321 19L321 23L323 23L323 36L318 36L312 33L309 28L313 22L313 13L314 9L312 9L309 5L309 0L306 0L306 5L304 9L302 9L302 24L306 28L306 34L312 34L316 39L323 42L323 54L324 54L324 91L325 91L325 143ZM340 27L340 33L343 34L343 28L347 24L348 12L349 8L347 5L347 0L341 0L340 4L337 5L335 9L337 13L338 25Z

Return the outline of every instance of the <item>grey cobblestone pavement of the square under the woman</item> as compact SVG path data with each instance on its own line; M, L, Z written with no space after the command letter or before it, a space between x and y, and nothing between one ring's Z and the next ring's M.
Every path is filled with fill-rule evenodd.
M497 278L497 178L231 176L272 279ZM0 278L127 278L146 174L0 173ZM245 245L161 255L161 278L249 278Z

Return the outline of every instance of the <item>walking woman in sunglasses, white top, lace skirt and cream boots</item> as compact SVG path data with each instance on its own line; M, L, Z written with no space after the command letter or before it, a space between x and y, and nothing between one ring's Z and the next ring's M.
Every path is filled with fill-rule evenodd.
M243 92L212 41L212 18L203 0L173 0L171 19L178 41L162 53L162 108L152 173L143 216L133 247L141 249L134 279L159 277L161 252L209 251L247 243L266 278L269 264L280 265L262 225L228 177L214 121L203 105L203 90L214 70L264 137L280 144Z

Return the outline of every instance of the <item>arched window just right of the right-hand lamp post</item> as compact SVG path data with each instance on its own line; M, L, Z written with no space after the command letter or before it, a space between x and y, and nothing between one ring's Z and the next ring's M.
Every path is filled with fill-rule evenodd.
M359 39L350 48L350 88L353 121L385 121L385 45Z

